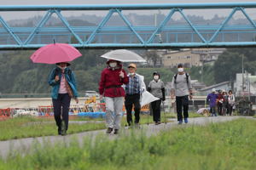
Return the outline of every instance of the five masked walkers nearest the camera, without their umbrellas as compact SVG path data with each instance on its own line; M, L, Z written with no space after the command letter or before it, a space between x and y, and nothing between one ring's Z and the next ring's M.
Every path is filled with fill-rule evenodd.
M68 128L68 111L71 99L79 103L76 80L68 66L70 63L57 63L49 75L49 85L52 86L52 101L58 134L66 135ZM148 87L144 77L137 74L137 65L128 66L126 74L120 61L108 59L107 67L101 73L99 82L100 99L106 102L106 133L119 133L120 122L125 99L126 121L129 126L139 126L141 99L144 91L158 98L151 103L155 125L160 124L160 105L166 100L165 84L160 80L160 73L153 73L153 80ZM183 65L178 65L178 73L172 78L172 99L176 96L177 121L188 123L189 99L192 99L192 87L189 74L183 71ZM132 110L135 119L132 119Z

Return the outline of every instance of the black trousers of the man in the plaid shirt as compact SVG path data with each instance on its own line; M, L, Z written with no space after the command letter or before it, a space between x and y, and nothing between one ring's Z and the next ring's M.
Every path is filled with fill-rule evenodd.
M132 106L134 105L134 116L135 116L135 123L140 122L140 112L141 112L141 104L140 104L140 94L126 94L125 95L125 110L126 110L126 119L128 125L131 126L132 124Z

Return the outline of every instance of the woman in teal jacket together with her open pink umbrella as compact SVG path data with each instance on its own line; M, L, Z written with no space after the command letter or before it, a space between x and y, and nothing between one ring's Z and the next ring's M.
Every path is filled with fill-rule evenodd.
M51 97L55 122L58 127L58 134L61 135L67 134L70 100L73 98L79 103L76 80L73 71L68 67L69 61L81 55L76 48L69 44L53 43L39 48L31 56L34 63L56 65L49 75L48 82L52 87Z

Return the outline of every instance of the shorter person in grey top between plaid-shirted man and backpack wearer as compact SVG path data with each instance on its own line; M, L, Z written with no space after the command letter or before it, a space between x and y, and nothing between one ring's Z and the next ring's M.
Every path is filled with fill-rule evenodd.
M151 102L153 111L153 121L155 125L160 124L160 105L162 101L166 100L165 84L160 80L160 74L157 71L153 73L153 80L148 84L148 92L159 98L154 102Z

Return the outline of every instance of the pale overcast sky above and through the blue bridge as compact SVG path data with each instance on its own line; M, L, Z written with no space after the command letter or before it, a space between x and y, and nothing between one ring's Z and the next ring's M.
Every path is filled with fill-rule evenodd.
M72 2L72 3L71 3ZM51 4L135 4L135 3L244 3L244 2L256 2L256 0L0 0L0 5L51 5ZM248 11L256 17L256 12ZM42 15L44 12L1 12L4 20L15 20L15 19L24 19L31 17L32 15ZM81 13L67 12L65 15L78 15ZM200 14L205 18L211 18L212 14L209 11L202 11L201 13L191 14ZM229 14L227 12L216 12L218 15ZM251 15L251 17L253 17Z

